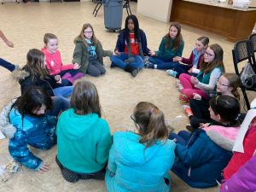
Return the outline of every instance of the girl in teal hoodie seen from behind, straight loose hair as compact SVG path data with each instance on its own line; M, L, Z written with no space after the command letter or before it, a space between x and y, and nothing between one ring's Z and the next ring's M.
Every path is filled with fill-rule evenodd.
M68 182L104 178L112 141L108 122L101 117L96 86L80 81L71 96L71 109L61 113L56 130L56 162Z

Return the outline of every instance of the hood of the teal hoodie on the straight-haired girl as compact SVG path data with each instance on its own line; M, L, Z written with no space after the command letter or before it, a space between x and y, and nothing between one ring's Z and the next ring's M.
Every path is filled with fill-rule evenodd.
M68 119L68 120L67 120ZM90 131L102 121L96 113L79 115L71 108L61 113L57 129L69 140L77 140L90 134Z

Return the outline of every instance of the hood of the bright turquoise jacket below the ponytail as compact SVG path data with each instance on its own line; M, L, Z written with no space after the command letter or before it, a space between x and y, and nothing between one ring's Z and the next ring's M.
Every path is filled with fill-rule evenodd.
M113 136L116 158L126 166L140 166L155 157L160 150L162 142L145 149L145 145L139 143L140 136L133 132L117 132ZM128 154L128 155L127 155Z

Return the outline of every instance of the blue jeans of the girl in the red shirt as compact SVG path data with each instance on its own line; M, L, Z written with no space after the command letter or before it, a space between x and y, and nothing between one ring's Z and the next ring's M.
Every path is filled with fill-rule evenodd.
M131 67L137 67L137 68L143 68L143 57L141 55L131 55L135 61L131 62ZM125 60L128 59L128 55L126 55L124 52L120 53L120 55L112 55L110 56L110 61L113 62L113 64L117 67L125 69Z

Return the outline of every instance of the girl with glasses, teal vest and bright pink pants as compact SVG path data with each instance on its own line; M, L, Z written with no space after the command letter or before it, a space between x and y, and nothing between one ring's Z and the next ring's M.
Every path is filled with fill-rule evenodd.
M218 44L210 45L204 53L204 60L201 62L200 73L196 77L182 73L179 76L181 92L179 100L189 102L195 94L204 98L216 89L218 78L224 73L223 63L224 51Z

